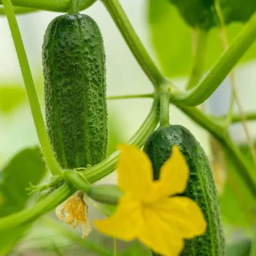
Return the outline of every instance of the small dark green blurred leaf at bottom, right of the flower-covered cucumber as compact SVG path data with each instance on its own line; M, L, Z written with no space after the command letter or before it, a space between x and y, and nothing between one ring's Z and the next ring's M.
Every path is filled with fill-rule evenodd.
M227 244L227 256L249 256L251 240L244 239Z

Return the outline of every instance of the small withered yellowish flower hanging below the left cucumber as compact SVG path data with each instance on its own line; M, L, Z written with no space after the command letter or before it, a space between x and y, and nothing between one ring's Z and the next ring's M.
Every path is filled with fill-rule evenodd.
M91 226L87 218L87 204L83 200L84 193L80 191L71 196L56 208L56 215L59 219L75 228L77 225L82 227L82 238L86 238L91 232ZM62 214L64 211L65 216Z

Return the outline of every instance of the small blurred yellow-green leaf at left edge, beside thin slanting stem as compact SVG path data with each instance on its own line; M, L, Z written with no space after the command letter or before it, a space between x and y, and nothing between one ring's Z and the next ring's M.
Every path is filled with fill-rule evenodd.
M0 87L0 112L10 113L26 101L26 91L23 87Z

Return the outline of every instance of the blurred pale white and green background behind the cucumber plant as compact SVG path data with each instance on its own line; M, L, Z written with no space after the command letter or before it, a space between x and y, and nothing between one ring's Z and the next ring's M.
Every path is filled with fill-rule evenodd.
M176 7L166 0L121 0L120 2L137 34L159 68L179 88L185 88L192 65L193 32L182 20ZM151 82L144 75L127 48L102 3L97 1L82 13L90 15L96 20L104 38L107 58L107 95L151 93L153 91ZM58 15L60 13L35 12L17 16L43 112L41 45L46 27ZM243 24L233 23L227 27L230 41L241 30L242 26ZM12 165L17 175L28 180L30 178L26 177L24 169L27 165L33 164L35 171L40 169L43 177L45 176L44 164L37 163L39 151L35 147L38 146L38 139L5 16L0 16L0 29L0 169L3 170L0 172L0 177L2 175L2 179L4 179L4 170ZM222 44L219 38L219 30L212 29L208 38L207 68L210 68L218 59L221 51ZM255 57L256 44L252 46L243 57L243 61L235 69L238 94L246 112L256 111ZM230 80L227 78L215 94L205 102L205 111L213 115L224 115L229 108L229 101ZM115 150L116 143L127 141L138 129L149 112L151 102L151 99L108 101L109 154ZM210 160L215 160L212 153L211 138L204 129L197 126L173 106L170 110L170 121L172 124L182 124L187 127L201 143ZM252 137L255 137L255 124L253 122L249 123L249 128ZM243 146L244 154L249 156L246 137L241 124L233 125L230 132L233 139ZM34 152L35 160L31 161L31 158L27 158L27 160L24 160L24 166L15 166L15 157L20 157L19 154L23 154L24 159L26 159L27 151ZM18 154L18 152L20 153ZM13 158L13 156L15 157ZM9 163L11 158L13 158L13 161ZM236 168L232 166L232 161L228 161L228 166L230 169ZM232 178L227 177L224 166L219 164L213 167L215 167L215 175L218 179L219 201L227 241L229 243L244 241L244 246L247 246L249 244L247 238L252 234L251 226L254 221L252 220L254 207L252 198L248 195L246 188L243 188L239 183L239 180L238 182L237 180L236 182L230 182ZM35 177L35 180L37 179L39 177ZM100 182L115 183L115 180L115 173L113 173ZM16 186L21 186L18 179L16 180ZM9 191L10 198L12 198L13 204L17 208L4 209L6 212L1 212L1 216L4 216L7 212L12 213L18 209L21 210L26 205L34 202L34 198L27 196L27 194L20 194L20 197L13 196L17 187L13 186L12 193ZM10 190L10 188L8 189ZM234 190L236 190L236 195ZM238 202L237 197L241 196L240 191L246 194L247 202ZM0 190L0 202L1 193L4 192ZM22 196L23 198L21 198ZM105 206L102 205L102 207ZM113 209L108 208L107 210L112 211ZM99 211L93 205L90 205L89 219L98 218L99 216L101 216ZM9 230L9 233L0 232L0 255L113 255L112 239L100 235L96 230L93 230L86 240L82 240L80 235L79 228L73 230L71 227L65 226L52 212L38 219L31 227ZM137 241L130 244L118 241L118 252L118 255L149 255L148 249L141 246Z

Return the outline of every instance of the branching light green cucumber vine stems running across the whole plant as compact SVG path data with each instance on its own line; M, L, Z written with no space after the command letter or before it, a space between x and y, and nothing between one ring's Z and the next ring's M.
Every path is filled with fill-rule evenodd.
M154 86L154 93L142 94L142 95L130 95L130 96L112 96L108 99L128 99L128 98L154 98L152 108L145 118L143 124L128 143L135 144L139 147L143 146L146 137L157 127L160 119L160 125L165 126L169 123L169 103L176 105L182 112L193 119L197 124L207 130L216 140L221 143L222 147L229 152L233 157L233 161L238 166L237 171L243 182L251 191L252 195L256 197L256 180L252 176L254 171L245 160L239 149L235 146L231 140L227 127L225 126L225 117L213 118L212 116L205 115L197 105L202 104L208 99L213 92L219 87L221 82L230 73L235 64L240 60L241 56L251 46L256 38L256 13L252 15L251 19L241 30L238 37L233 40L229 48L221 55L219 60L210 69L204 79L195 84L197 77L200 77L202 70L198 69L193 71L190 77L187 91L179 91L165 76L160 72L155 63L152 61L148 52L144 48L140 41L140 38L136 34L135 30L130 24L129 19L126 16L121 4L118 0L101 0L105 5L108 13L112 16L113 21L118 27L119 31L123 35L124 40L130 48L130 51L137 59L138 64L143 69L144 73L151 80ZM13 5L16 7L16 14L34 12L35 10L48 10L52 12L67 12L72 4L74 4L73 12L77 10L84 10L95 2L95 0L13 0ZM77 7L76 4L78 3ZM26 52L24 50L23 41L21 40L20 30L16 22L14 9L10 0L0 0L0 4L4 5L4 12L9 21L10 30L12 32L13 41L15 44L16 52L21 66L21 72L23 74L24 84L26 86L27 96L29 98L29 104L34 118L35 127L37 129L38 139L40 141L41 150L46 165L51 171L52 175L63 176L63 170L60 168L57 160L54 157L51 144L49 143L46 128L44 126L43 117L41 115L40 105L38 104L37 93L35 91L34 82L30 73L29 63L27 62ZM0 9L0 15L4 14L3 9ZM207 34L200 32L197 41L197 49L205 46ZM204 57L204 51L197 51L194 59L194 65L201 62ZM160 118L159 118L160 108ZM248 114L247 119L256 119L256 114ZM240 115L233 115L231 121L233 123L240 122L242 117ZM99 179L107 176L115 170L116 161L118 159L119 152L116 151L108 158L103 160L98 165L92 166L86 171L81 171L86 179L90 182L96 182ZM65 171L63 176L67 182L62 187L57 188L48 197L42 199L37 204L30 208L27 208L21 212L13 215L6 216L0 219L0 230L10 229L22 225L26 222L33 221L38 216L43 215L52 208L63 202L68 196L74 193L77 183L71 185L75 172ZM74 181L74 180L73 180ZM71 182L71 183L70 183Z

